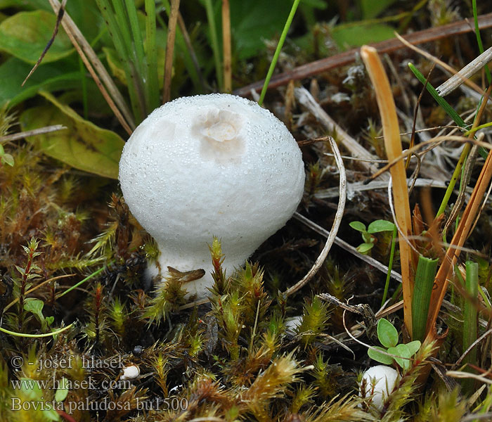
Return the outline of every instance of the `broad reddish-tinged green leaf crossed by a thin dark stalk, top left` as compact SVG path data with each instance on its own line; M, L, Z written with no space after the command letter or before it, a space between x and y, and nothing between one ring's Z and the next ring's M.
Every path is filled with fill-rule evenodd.
M51 39L56 15L46 11L19 12L0 23L0 51L34 65ZM43 63L60 60L74 51L67 34L60 30Z

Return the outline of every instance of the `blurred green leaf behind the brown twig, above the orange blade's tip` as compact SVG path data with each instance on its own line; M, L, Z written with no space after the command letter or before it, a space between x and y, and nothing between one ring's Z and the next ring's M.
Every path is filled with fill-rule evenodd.
M339 25L332 30L332 37L341 49L363 46L394 37L394 28L382 23Z

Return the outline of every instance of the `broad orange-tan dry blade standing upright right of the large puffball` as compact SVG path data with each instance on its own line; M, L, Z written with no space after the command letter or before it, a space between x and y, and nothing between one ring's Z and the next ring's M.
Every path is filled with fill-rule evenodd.
M382 129L384 135L384 146L388 160L391 162L402 153L400 129L398 117L396 116L396 107L394 105L393 94L389 80L384 72L383 65L376 49L369 46L362 46L361 57L368 70L369 77L373 82L377 106L380 109L382 120ZM408 200L408 191L406 184L405 165L403 161L396 164L389 170L393 179L394 205L396 214L396 224L401 229L403 236L411 236L411 217L410 202ZM400 243L400 260L401 260L401 279L403 286L403 314L405 325L412 338L412 295L413 279L410 269L412 262L412 249L406 241Z

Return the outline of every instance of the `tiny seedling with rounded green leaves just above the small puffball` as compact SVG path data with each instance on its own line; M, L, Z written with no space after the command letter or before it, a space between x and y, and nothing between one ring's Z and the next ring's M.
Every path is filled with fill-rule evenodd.
M396 331L396 328L394 328L394 325L391 324L391 322L384 318L377 322L377 338L386 348L375 346L374 349L377 350L369 349L369 357L386 365L391 365L396 362L396 364L400 366L403 371L408 371L411 366L410 358L420 349L420 341L414 340L406 345L399 345L398 331ZM394 354L394 357L380 353L379 350L389 354Z

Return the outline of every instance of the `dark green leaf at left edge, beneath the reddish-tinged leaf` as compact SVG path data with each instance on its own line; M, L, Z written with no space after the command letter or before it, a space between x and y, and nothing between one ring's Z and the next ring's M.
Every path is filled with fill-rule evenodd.
M8 58L0 65L0 107L8 103L9 107L35 96L39 89L46 91L70 89L80 85L80 72L72 67L72 63L63 60L60 65L40 65L24 87L22 81L30 72L32 65L18 58Z

